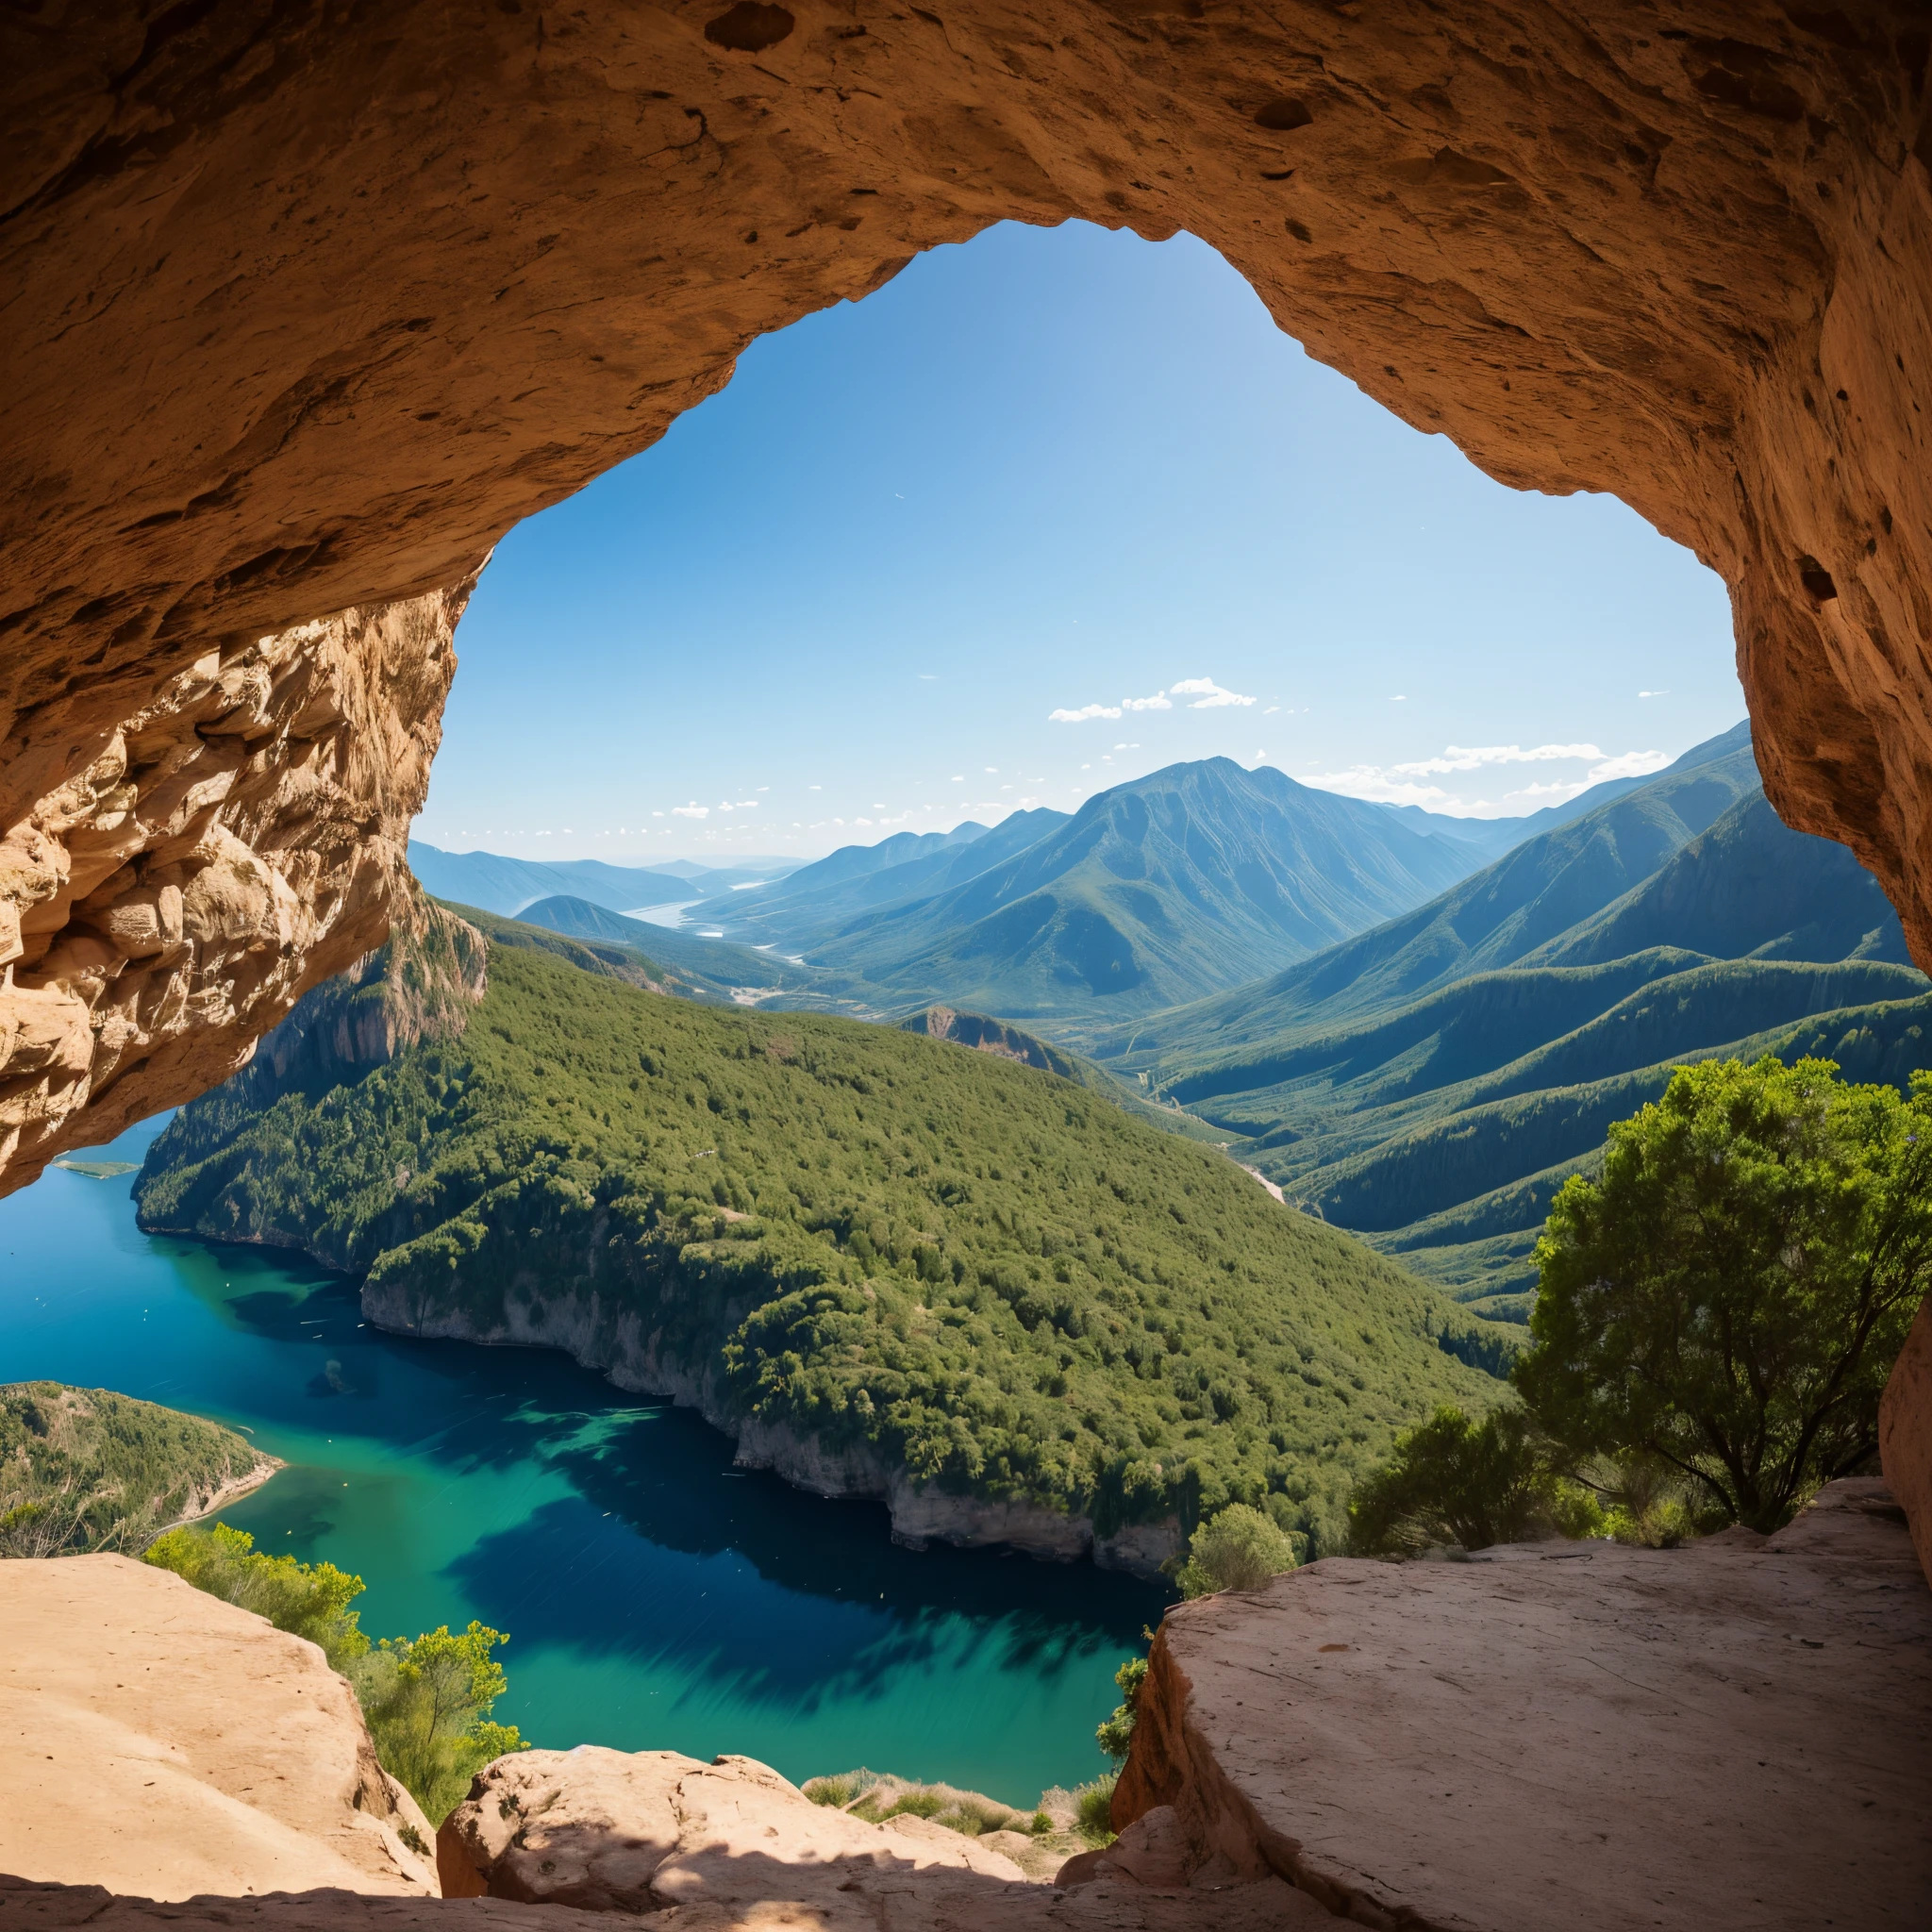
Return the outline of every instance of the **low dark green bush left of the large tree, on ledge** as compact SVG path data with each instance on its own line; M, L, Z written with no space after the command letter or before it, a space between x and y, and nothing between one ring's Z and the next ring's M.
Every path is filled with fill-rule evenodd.
M1406 1555L1426 1544L1519 1544L1551 1530L1596 1528L1590 1497L1565 1482L1563 1453L1520 1408L1472 1422L1437 1408L1395 1437L1381 1468L1356 1484L1349 1548L1360 1557Z

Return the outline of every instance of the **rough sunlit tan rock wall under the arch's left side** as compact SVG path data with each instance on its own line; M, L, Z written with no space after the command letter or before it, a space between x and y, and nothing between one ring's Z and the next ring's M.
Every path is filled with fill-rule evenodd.
M93 723L77 672L71 703L21 715L0 771L4 1184L224 1080L383 943L466 597L191 653Z

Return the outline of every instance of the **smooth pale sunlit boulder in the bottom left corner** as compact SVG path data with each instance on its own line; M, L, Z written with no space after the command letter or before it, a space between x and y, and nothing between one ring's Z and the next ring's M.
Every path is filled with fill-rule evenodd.
M145 1899L437 1889L429 1824L315 1644L118 1555L0 1563L0 1870Z

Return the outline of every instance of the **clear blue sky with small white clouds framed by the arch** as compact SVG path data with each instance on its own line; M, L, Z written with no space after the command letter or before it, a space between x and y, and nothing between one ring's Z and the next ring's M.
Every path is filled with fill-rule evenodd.
M813 856L1227 755L1517 815L1745 715L1721 582L1503 489L1204 243L993 228L753 344L477 585L415 835Z

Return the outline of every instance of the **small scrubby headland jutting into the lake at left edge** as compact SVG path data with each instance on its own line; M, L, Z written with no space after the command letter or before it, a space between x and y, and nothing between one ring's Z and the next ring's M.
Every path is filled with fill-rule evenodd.
M232 1430L58 1381L0 1387L0 1557L129 1555L278 1464Z

